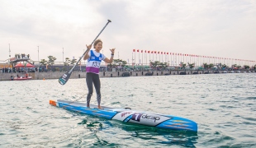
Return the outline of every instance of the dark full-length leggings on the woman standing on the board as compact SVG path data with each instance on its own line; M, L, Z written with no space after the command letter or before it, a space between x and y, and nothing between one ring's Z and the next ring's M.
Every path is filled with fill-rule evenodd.
M94 84L96 93L97 93L97 105L101 104L101 81L98 74L87 72L86 73L86 83L88 86L88 95L87 95L87 105L90 105L90 100L93 93L92 83Z

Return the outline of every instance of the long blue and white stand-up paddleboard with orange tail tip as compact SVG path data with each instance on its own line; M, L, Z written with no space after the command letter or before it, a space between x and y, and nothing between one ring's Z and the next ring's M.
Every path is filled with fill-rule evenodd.
M131 110L130 108L116 109L106 106L102 106L103 109L97 109L97 105L92 104L90 104L90 108L87 108L87 105L84 103L60 99L57 101L50 100L50 104L74 112L119 120L125 123L135 123L151 127L197 132L197 123L187 118L180 118L173 115L136 111Z

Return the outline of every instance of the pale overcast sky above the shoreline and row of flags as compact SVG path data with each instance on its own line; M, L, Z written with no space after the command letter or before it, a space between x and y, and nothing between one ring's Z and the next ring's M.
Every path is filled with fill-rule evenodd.
M107 20L102 52L132 49L255 60L255 0L0 0L0 60L83 55Z

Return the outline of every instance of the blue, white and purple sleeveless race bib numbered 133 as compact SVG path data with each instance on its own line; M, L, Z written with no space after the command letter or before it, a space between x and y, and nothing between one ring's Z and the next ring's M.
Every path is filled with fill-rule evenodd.
M102 53L97 57L91 50L91 56L88 58L86 64L86 72L92 72L98 74L100 72L101 62L102 62Z

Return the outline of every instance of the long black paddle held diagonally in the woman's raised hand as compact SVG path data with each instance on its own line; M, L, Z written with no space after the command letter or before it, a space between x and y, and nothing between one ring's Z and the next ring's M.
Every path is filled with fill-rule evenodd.
M103 27L103 29L102 29L101 32L97 35L97 37L102 34L102 31L106 28L106 26L107 26L108 23L110 23L110 22L111 22L110 20L107 20L107 24ZM97 39L97 37L92 41L92 44L93 44L94 41ZM92 44L91 44L91 45L92 45ZM88 50L90 50L90 49L87 49L87 50L83 53L83 55L78 59L78 62L80 62L80 60L83 58L84 54L85 54L86 52L88 52ZM67 81L69 81L69 77L71 76L71 74L72 74L72 72L73 72L73 68L78 65L78 62L76 62L76 63L73 65L73 67L70 69L69 72L66 72L66 73L64 73L63 76L60 76L60 77L59 77L59 84L64 85L64 84L67 83Z

